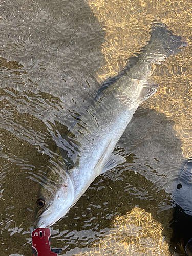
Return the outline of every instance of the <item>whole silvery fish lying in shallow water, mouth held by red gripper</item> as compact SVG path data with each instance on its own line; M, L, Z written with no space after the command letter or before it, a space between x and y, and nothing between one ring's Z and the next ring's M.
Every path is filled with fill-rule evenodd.
M157 91L158 84L150 80L154 64L188 46L186 37L172 34L162 22L154 22L149 33L148 44L103 82L95 103L69 132L58 135L59 157L50 161L39 187L34 229L53 225L97 176L126 161L113 150L138 106Z

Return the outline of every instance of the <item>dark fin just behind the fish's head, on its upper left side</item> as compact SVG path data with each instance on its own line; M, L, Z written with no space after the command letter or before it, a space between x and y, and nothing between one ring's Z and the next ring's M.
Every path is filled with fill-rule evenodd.
M59 143L61 156L68 169L78 166L80 156L79 142L71 138L70 133L62 135Z

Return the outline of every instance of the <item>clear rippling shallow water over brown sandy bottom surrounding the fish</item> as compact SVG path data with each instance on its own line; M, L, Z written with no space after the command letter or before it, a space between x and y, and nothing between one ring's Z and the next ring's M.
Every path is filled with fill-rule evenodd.
M58 134L94 102L100 83L139 52L150 38L151 22L159 19L174 34L187 36L189 47L156 67L156 94L138 108L115 148L127 162L97 177L52 226L52 247L62 248L62 255L184 255L192 217L174 207L172 197L192 156L191 8L187 1L161 0L1 3L5 256L32 255L29 228Z

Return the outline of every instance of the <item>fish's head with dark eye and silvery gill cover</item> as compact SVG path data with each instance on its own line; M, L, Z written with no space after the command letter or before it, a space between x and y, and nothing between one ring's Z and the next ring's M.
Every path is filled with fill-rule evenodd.
M41 183L39 187L34 229L53 225L74 204L74 186L69 174L52 172L45 180L46 182Z

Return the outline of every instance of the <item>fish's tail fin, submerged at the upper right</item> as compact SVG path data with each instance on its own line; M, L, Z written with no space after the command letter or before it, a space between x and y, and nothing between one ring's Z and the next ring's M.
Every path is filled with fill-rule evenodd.
M188 46L186 37L172 34L161 22L152 23L150 35L150 41L143 49L145 53L150 53L147 56L147 62L159 63L170 55L182 51L182 47Z

